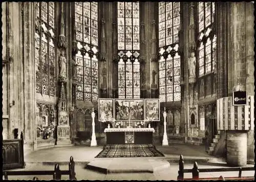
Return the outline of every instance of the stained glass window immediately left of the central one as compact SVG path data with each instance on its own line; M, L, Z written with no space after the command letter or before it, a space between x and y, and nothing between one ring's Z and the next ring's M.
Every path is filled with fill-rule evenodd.
M78 53L76 99L98 101L98 4L75 3Z

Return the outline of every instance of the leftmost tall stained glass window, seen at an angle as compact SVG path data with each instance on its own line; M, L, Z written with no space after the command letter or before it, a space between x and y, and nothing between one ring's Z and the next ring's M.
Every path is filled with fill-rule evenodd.
M35 10L36 92L56 96L55 5L37 2Z

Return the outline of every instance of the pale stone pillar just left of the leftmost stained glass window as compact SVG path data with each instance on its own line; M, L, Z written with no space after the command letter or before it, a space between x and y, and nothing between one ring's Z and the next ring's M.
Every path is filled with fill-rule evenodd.
M20 4L20 3L18 3ZM35 58L34 58L34 3L23 3L24 21L24 150L36 149L36 103L35 103ZM15 21L17 20L15 17ZM19 29L20 30L20 29ZM15 40L18 42L18 40ZM18 45L20 46L20 45ZM22 59L16 59L20 61Z

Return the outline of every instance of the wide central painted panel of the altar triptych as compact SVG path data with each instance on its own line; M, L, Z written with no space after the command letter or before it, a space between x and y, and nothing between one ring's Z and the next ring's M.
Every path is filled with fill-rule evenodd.
M116 121L144 121L144 99L115 99Z

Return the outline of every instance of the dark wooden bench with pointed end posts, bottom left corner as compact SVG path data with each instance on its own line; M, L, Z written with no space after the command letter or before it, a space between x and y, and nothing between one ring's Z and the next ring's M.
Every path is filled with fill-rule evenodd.
M60 180L61 175L69 175L70 180L76 180L75 173L75 162L73 156L70 157L69 170L60 170L59 165L55 164L54 170L44 170L44 171L3 171L3 175L5 179L8 180L9 175L53 175L54 180ZM35 176L33 180L37 180L38 178Z

